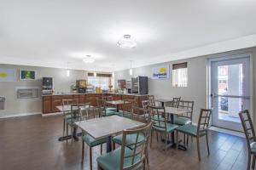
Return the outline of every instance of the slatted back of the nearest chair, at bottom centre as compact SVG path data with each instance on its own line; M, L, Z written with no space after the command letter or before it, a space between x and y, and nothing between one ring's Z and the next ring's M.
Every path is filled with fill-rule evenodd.
M144 162L146 158L146 153L148 150L148 140L151 132L152 122L149 122L144 127L139 127L132 130L123 131L123 139L121 146L121 161L120 167L121 170L131 170L131 169L143 169ZM134 143L126 140L126 137L131 135L134 137ZM133 150L127 150L127 147L132 148ZM128 152L129 151L129 152ZM129 161L127 161L129 160ZM129 162L124 163L124 162Z

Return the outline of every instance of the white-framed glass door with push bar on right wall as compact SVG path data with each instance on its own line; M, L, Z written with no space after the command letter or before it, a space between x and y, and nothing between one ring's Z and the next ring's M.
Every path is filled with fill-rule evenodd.
M250 58L211 62L212 125L242 131L239 111L250 109Z

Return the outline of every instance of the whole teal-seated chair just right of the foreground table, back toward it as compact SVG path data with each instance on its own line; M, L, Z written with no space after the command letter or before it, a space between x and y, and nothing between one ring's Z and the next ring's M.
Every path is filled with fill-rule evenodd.
M151 122L153 122L151 131L151 141L150 146L152 146L152 138L154 131L160 133L165 139L165 150L168 147L168 136L170 133L178 127L175 124L169 123L167 120L166 108L160 106L149 106L151 109ZM158 138L158 137L157 137Z

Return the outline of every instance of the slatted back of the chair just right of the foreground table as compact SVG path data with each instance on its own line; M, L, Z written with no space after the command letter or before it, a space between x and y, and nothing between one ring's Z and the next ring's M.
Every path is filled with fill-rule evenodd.
M167 131L166 108L160 106L149 106L149 108L153 127L165 129Z

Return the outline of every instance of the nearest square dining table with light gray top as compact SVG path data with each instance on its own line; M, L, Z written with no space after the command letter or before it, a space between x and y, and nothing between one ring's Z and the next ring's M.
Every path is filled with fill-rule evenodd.
M107 152L112 150L112 137L122 133L125 129L142 127L143 122L137 122L122 116L103 116L75 124L94 139L107 138Z

